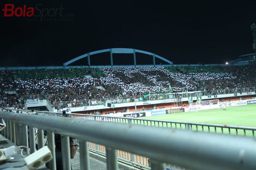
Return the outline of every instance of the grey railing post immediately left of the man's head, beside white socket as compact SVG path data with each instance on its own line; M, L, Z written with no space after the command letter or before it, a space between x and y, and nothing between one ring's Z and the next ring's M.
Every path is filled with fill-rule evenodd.
M55 147L54 147L54 133L48 132L47 133L47 140L48 140L48 148L52 152L52 160L49 162L50 170L56 170L56 157L55 157Z

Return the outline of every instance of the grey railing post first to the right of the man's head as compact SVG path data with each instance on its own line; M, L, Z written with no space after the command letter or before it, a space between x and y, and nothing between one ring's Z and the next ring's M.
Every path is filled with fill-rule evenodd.
M80 169L89 170L89 148L87 141L79 141L79 151L80 151Z

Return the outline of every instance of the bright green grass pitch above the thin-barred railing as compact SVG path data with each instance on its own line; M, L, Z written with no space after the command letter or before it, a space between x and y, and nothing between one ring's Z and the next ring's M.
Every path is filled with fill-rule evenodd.
M256 104L145 117L145 119L189 121L256 127Z

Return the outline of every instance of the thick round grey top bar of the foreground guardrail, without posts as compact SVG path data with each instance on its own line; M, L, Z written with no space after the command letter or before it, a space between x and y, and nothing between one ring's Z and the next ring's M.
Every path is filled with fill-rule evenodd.
M188 169L256 169L252 137L2 111L0 117Z

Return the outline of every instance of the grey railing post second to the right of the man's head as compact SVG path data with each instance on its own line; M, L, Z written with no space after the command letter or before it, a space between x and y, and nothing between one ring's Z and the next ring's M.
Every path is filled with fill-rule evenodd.
M107 170L118 170L117 150L106 147Z

